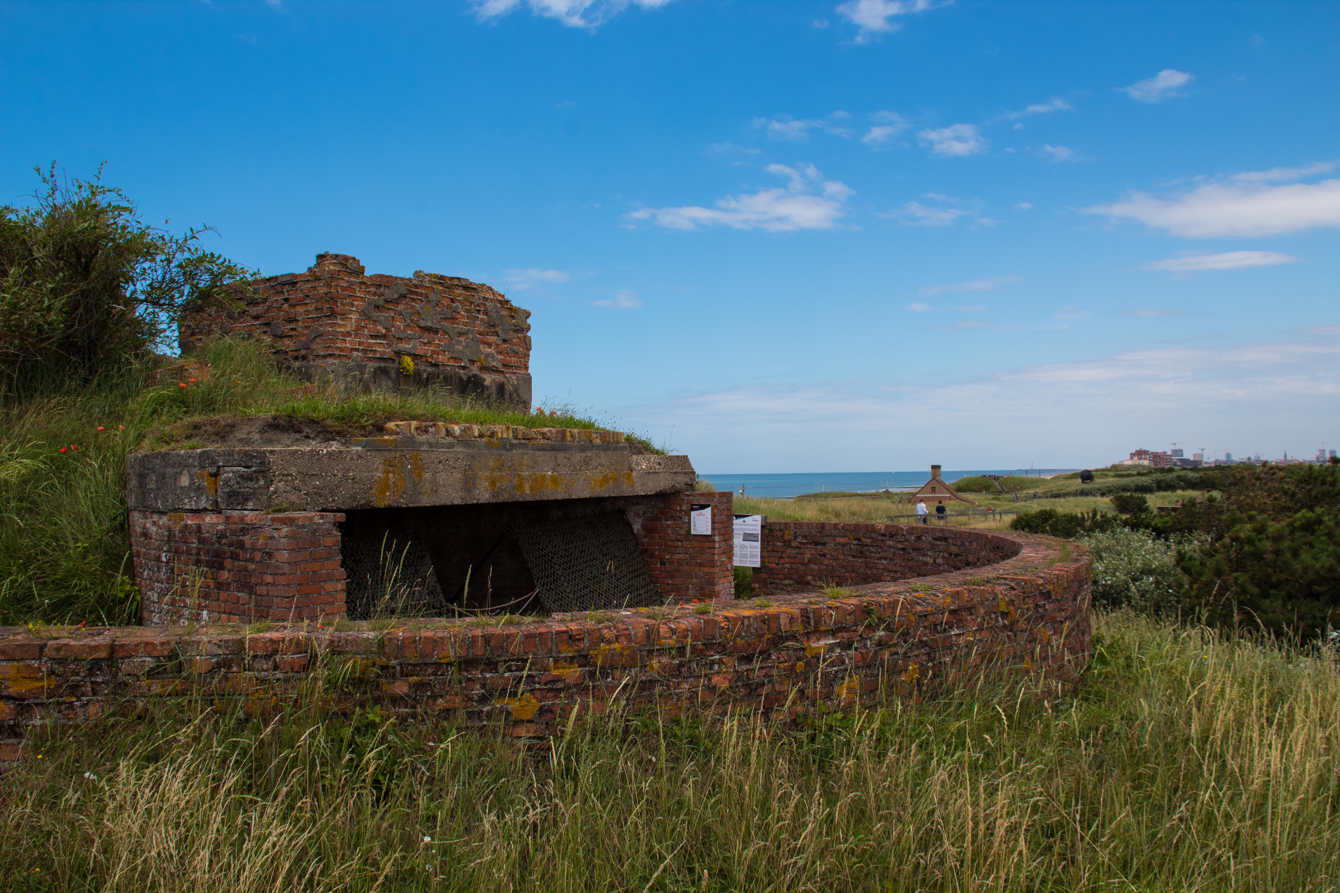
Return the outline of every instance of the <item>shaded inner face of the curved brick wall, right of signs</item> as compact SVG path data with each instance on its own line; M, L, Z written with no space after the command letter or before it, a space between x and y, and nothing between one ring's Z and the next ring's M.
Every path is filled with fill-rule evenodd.
M1017 552L1014 540L982 530L769 521L753 584L764 593L852 586L993 564Z

